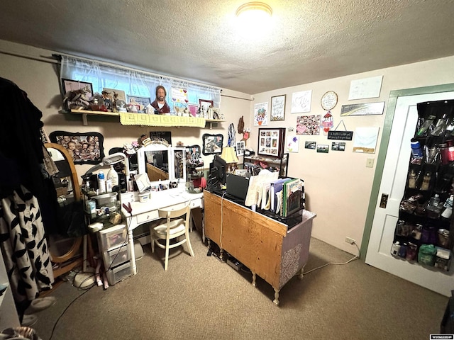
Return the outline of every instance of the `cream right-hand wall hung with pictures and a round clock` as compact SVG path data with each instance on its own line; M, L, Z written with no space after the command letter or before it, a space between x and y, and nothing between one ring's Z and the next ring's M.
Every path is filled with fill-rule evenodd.
M253 128L249 145L253 145L257 149L258 126L253 127L254 103L268 102L269 111L271 97L286 94L285 120L269 122L267 127L296 128L298 115L321 115L323 117L326 111L321 108L321 96L326 91L332 90L338 94L338 104L331 110L334 118L334 127L341 120L343 120L349 131L355 131L355 128L358 127L380 127L379 142L376 148L378 152L385 114L341 117L341 106L351 103L384 101L384 111L386 113L390 91L454 83L453 63L454 57L446 57L439 60L379 69L362 74L353 74L348 77L329 79L255 94L254 101L251 103L250 116L247 123ZM348 101L350 81L380 75L383 76L383 83L379 98ZM301 79L302 82L304 82L304 79ZM290 113L292 93L305 90L312 90L311 112L302 114ZM342 125L339 127L339 130L341 128L343 128ZM287 135L295 134L295 131L288 132L287 130ZM316 150L312 149L304 149L304 142L308 140L316 141L318 145L329 145L330 150L328 154L317 153ZM317 214L313 223L312 236L340 249L349 251L352 254L356 254L355 246L345 243L345 237L352 237L356 240L358 246L360 246L378 154L377 152L375 154L352 152L353 141L345 142L345 152L332 151L331 142L333 141L328 140L323 135L323 132L321 135L316 136L300 135L299 152L289 154L288 174L289 176L304 179L307 209ZM373 168L366 167L366 160L368 158L375 159Z

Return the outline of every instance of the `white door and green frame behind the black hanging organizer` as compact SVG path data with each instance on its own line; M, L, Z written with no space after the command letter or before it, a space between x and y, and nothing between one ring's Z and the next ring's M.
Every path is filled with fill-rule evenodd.
M453 98L454 84L390 93L361 249L367 264L445 296L453 289L452 272L395 259L390 249L404 196L410 140L418 120L416 104ZM387 195L386 208L380 208L382 194Z

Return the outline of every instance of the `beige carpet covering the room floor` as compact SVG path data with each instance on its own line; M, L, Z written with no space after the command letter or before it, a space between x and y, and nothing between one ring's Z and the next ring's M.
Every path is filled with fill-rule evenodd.
M56 288L54 306L38 313L43 339L428 339L438 334L448 298L367 266L326 266L274 290L250 273L206 256L198 232L195 257L176 251L164 271L163 251L137 262L138 274L107 290ZM311 239L306 271L352 256ZM79 295L82 296L78 297ZM78 297L78 298L77 298ZM74 299L77 299L73 302ZM68 307L69 306L69 307ZM66 309L66 310L65 310Z

